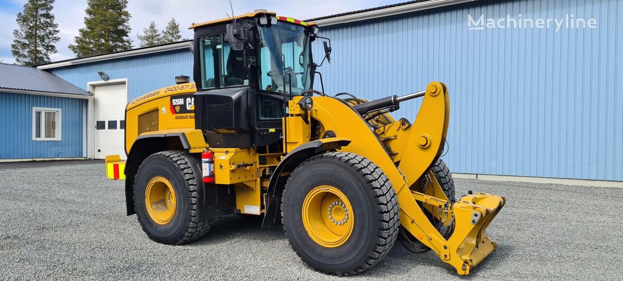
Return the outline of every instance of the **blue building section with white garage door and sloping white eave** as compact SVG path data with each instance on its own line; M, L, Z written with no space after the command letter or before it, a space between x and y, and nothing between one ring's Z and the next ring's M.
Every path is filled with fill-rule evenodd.
M93 93L87 105L88 158L125 155L125 105L134 98L191 75L190 41L39 65L39 69Z

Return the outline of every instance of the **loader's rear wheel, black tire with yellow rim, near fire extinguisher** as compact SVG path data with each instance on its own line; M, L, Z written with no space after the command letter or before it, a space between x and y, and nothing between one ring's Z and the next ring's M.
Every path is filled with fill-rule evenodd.
M184 244L203 237L210 228L212 219L197 219L198 177L191 163L188 153L170 150L150 155L138 168L134 184L135 212L143 231L151 240L171 245ZM160 217L154 215L154 210L168 206L158 205L163 200L148 199L149 194L146 193L148 189L150 194L155 193L151 188L155 179L172 189L165 189L164 196L170 211ZM147 200L150 202L146 204Z

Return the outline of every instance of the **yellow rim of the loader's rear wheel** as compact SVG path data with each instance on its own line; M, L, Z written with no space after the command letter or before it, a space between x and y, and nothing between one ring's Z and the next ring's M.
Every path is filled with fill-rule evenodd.
M175 191L169 180L155 176L145 189L145 206L156 224L168 224L176 209Z

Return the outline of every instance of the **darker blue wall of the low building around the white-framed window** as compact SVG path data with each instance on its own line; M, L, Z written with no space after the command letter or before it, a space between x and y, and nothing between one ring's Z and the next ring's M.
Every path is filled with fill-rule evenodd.
M0 159L82 157L81 98L0 92ZM60 141L32 140L32 108L61 108Z

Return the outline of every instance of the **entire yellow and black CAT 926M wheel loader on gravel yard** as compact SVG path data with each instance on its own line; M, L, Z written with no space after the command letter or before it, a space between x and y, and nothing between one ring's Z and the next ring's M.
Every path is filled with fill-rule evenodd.
M327 60L331 50L313 23L255 11L191 28L194 83L176 77L128 103L127 160L107 156L109 178L126 179L128 215L151 239L183 244L216 217L263 215L262 226L283 224L297 254L334 275L368 269L396 239L461 275L496 249L485 229L505 199L455 199L440 159L444 83L332 97L312 90L321 75L310 45L324 40ZM411 98L424 99L417 118L394 120Z

